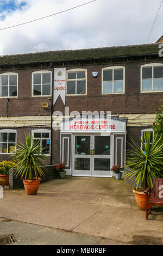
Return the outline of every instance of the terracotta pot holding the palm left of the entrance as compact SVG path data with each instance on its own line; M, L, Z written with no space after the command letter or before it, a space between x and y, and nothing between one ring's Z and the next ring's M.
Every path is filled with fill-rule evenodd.
M40 185L40 178L32 178L32 180L24 180L23 184L27 194L36 194Z

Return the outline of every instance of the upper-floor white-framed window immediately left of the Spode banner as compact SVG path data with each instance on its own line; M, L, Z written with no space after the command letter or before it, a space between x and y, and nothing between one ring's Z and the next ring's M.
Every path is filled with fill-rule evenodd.
M32 96L51 96L52 71L39 70L32 73Z

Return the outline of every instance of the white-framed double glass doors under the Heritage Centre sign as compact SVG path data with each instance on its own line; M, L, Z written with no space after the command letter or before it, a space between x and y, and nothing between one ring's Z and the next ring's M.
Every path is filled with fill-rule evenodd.
M73 175L112 176L111 137L74 135Z

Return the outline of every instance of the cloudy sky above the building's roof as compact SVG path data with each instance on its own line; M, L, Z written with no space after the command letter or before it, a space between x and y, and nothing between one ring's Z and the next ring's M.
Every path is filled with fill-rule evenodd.
M0 29L90 0L0 0ZM146 44L160 0L97 0L27 25L0 30L0 55ZM149 43L163 34L163 4Z

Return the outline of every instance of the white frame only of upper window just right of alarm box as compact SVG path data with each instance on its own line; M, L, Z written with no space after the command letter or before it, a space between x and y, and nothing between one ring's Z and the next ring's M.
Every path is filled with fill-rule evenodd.
M109 70L109 69L123 69L123 92L122 93L103 93L103 70ZM112 92L114 90L114 72L112 72ZM116 95L116 94L125 94L125 66L108 66L106 68L102 69L102 95Z

